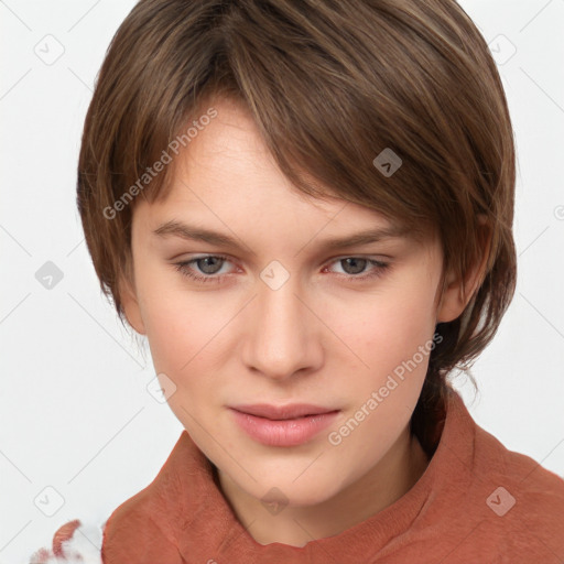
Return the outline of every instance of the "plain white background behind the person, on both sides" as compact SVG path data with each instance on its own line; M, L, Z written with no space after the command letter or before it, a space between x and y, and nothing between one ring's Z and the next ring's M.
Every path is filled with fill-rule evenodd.
M147 391L154 378L148 347L138 351L102 299L75 206L94 79L133 3L0 2L3 564L26 563L68 520L101 523L152 481L183 430ZM562 476L564 0L460 3L499 45L518 145L519 282L474 367L480 394L474 399L464 378L457 388L480 426ZM51 65L34 52L42 41L52 54L64 48ZM511 45L517 52L505 61ZM46 261L63 272L51 290L35 279ZM47 486L64 498L52 517L34 502L39 496L44 509L54 507Z

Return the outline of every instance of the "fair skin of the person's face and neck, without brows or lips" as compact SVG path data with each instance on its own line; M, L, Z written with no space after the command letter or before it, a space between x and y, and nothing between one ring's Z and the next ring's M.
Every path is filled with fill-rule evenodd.
M339 445L327 435L431 341L436 323L460 315L480 269L466 280L448 275L435 302L436 239L324 250L326 238L390 224L364 206L303 195L280 173L243 108L228 100L213 106L218 117L176 158L166 199L135 202L124 311L147 336L156 373L174 382L167 402L217 467L221 491L249 534L261 544L304 546L390 506L424 473L429 459L408 425L427 356ZM235 237L240 247L152 232L171 219ZM204 254L228 260L186 270L223 279L203 283L176 270ZM355 257L356 265L345 260ZM378 270L362 258L390 267L358 280ZM278 290L260 278L273 260L290 275ZM228 409L262 402L341 412L306 444L265 446ZM274 487L288 503L275 514L261 502Z

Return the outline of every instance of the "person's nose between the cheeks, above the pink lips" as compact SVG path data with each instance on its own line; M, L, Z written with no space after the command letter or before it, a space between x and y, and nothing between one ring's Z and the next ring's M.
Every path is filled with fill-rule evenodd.
M296 279L290 275L278 290L259 280L258 295L247 313L243 361L273 380L286 380L296 372L303 376L323 364L323 324Z

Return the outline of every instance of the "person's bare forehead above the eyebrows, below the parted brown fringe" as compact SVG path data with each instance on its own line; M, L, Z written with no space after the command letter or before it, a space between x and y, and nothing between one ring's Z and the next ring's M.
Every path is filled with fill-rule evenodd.
M180 148L169 173L170 189L154 203L154 212L158 207L194 209L213 204L214 208L246 209L257 216L275 207L280 212L292 208L295 213L315 209L332 217L347 204L333 196L328 187L326 198L319 199L293 186L278 169L245 106L228 98L215 98L209 107L216 110L216 117L198 128L186 147ZM147 204L143 198L141 202ZM372 219L376 214L364 206L356 206L356 212L371 215ZM380 219L386 221L383 216Z

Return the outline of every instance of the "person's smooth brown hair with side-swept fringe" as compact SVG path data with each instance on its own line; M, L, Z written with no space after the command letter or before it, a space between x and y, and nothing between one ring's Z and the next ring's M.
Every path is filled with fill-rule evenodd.
M299 189L437 232L443 275L479 259L486 217L485 275L465 313L437 325L412 417L432 449L446 376L490 343L516 286L513 132L484 37L454 0L141 0L108 48L78 164L86 242L122 323L135 197L166 195L173 166L148 170L219 95L249 109ZM389 176L372 162L384 149L402 161Z

